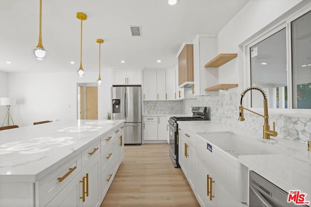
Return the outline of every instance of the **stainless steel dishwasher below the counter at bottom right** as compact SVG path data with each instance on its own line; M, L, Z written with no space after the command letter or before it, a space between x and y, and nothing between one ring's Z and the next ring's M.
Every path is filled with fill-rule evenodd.
M309 207L288 203L288 192L249 171L249 207Z

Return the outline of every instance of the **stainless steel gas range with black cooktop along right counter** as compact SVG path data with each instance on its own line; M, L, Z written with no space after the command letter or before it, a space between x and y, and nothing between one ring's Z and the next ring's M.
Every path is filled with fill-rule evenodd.
M177 121L204 121L210 120L207 107L192 107L192 116L171 116L169 119L170 127L170 157L174 167L180 167L178 163L178 124Z

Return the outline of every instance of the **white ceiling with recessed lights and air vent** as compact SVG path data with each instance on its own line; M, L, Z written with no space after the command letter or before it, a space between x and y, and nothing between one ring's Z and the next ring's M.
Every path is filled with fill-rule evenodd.
M32 56L38 43L39 0L0 0L0 71L72 72L80 63L80 20L83 12L83 57L86 71L101 68L170 68L183 42L197 33L218 33L248 0L43 0L43 61ZM132 37L129 25L142 27ZM156 63L160 59L161 63ZM126 60L121 64L121 60ZM7 64L6 62L12 64ZM70 64L74 61L75 64Z

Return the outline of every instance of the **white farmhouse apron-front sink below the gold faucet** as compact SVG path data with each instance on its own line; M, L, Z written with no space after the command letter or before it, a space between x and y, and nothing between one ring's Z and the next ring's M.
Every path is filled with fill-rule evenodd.
M277 154L268 143L231 131L197 133L197 159L235 198L247 202L248 169L239 156ZM199 150L198 150L199 149Z

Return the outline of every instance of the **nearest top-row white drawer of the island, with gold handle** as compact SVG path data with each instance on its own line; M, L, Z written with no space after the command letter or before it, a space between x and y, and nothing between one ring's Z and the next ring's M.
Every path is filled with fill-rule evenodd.
M39 206L46 206L80 172L81 154L40 179L38 181Z

